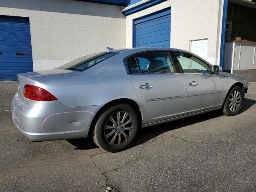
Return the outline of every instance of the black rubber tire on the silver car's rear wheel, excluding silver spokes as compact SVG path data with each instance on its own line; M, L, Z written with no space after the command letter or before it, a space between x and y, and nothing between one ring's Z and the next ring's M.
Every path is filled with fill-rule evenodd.
M112 139L114 138L114 136L117 134L116 138L114 138L114 142L118 142L118 144L114 145L114 144L110 144L109 138L106 138L106 136L108 134L110 134L110 130L106 130L105 126L107 123L109 123L110 120L110 116L113 116L113 119L115 122L117 122L118 118L117 118L117 113L120 112L120 114L124 116L124 112L128 113L128 118L126 118L126 120L130 120L130 118L132 118L132 122L131 122L131 127L132 131L129 130L123 130L123 128L121 125L114 126L114 124L112 125L113 128L110 128L111 131L115 131L111 137ZM115 116L116 114L116 116ZM120 115L119 115L120 116ZM122 120L122 117L119 118L120 120ZM127 121L128 121L127 120ZM112 121L111 121L112 122ZM110 122L110 123L111 123ZM125 123L125 122L124 122ZM124 124L123 123L123 124ZM122 122L120 121L120 124L122 124ZM129 124L128 124L129 125ZM111 125L109 127L112 127ZM107 126L106 126L107 127ZM138 119L138 114L135 112L135 110L129 106L128 104L124 104L124 103L117 103L114 104L112 106L109 106L108 108L106 108L98 117L98 119L96 120L96 124L94 126L94 130L92 131L92 136L93 136L93 140L96 143L96 145L98 145L100 148L108 151L108 152L118 152L123 150L124 148L126 148L134 139L137 130L139 127L139 119ZM122 129L122 130L121 130ZM126 138L124 137L124 134L122 134L122 136L120 136L119 132L121 131L120 134L122 134L123 132L126 132L126 136L129 136L128 139L126 140ZM128 134L128 135L127 135ZM109 136L110 137L110 136ZM125 141L122 144L119 144L119 137L121 137L122 139L125 139ZM117 139L117 140L116 140Z

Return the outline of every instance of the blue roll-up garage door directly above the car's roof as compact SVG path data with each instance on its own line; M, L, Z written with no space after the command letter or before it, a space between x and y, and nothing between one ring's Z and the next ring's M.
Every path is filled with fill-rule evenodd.
M134 20L133 47L170 48L171 10Z

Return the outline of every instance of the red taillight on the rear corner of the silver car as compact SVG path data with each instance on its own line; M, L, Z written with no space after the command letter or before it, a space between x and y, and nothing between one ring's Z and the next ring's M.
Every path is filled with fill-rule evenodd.
M56 101L58 100L51 93L43 88L26 84L23 90L24 97L35 101Z

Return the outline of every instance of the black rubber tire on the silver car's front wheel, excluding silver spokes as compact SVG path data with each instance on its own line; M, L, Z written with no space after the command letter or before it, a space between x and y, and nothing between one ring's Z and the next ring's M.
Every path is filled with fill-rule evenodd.
M240 102L240 103L239 103L239 106L234 111L232 111L230 109L231 106L229 106L229 105L231 104L231 102L233 102L233 101L230 101L230 99L232 98L231 94L233 94L235 91L238 91L240 94L240 99L238 100L238 102ZM234 88L232 88L232 90L230 90L230 92L228 92L226 100L223 104L222 113L227 116L237 115L242 108L243 101L244 101L244 93L242 92L242 89L239 86L235 86Z

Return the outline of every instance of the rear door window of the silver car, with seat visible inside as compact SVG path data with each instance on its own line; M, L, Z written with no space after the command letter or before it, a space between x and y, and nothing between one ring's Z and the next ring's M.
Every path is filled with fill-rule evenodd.
M147 52L128 60L131 73L175 73L174 62L167 52ZM139 70L139 71L138 71Z

